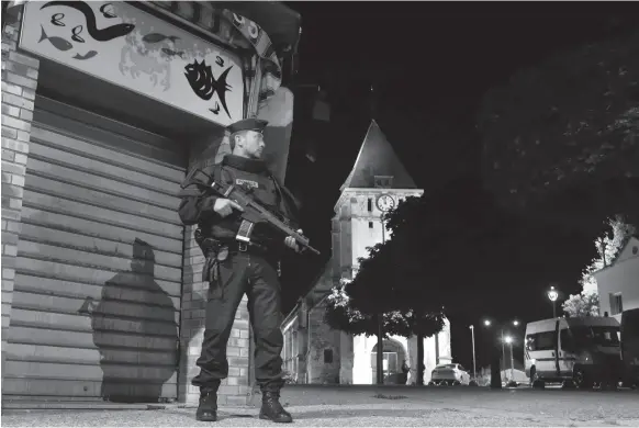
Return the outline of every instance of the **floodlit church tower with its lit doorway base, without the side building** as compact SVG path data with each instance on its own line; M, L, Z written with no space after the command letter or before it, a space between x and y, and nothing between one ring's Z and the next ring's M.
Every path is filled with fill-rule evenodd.
M333 283L352 279L358 259L368 257L368 247L390 239L382 224L385 211L408 196L421 196L406 168L393 150L378 123L372 120L357 160L340 188L333 217ZM343 384L371 384L375 378L377 338L339 335L339 381ZM388 357L386 357L388 356ZM411 368L408 382L417 374L417 339L392 336L384 340L384 375L401 371L405 360ZM450 362L450 324L444 331L424 339L425 382L440 362Z

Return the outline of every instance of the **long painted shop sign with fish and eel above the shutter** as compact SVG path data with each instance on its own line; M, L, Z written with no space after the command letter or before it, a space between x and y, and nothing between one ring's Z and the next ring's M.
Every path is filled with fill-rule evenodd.
M226 126L243 116L237 56L121 1L29 1L20 47Z

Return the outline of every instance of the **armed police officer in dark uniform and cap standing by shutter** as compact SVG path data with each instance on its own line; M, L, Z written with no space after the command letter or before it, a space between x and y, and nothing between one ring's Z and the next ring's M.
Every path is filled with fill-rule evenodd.
M298 202L261 160L266 125L266 121L256 119L232 124L228 127L232 154L221 164L209 161L202 171L216 181L239 187L271 213L295 222ZM203 281L210 282L204 339L197 361L200 373L192 380L192 384L200 387L197 419L215 421L217 418L217 388L221 380L228 375L226 343L235 312L246 293L256 342L255 375L262 393L259 417L291 423L291 415L279 402L284 382L278 266L284 249L299 252L300 248L292 237L284 237L259 222L253 229L250 243L237 240L243 207L235 201L214 195L208 190L210 183L197 179L202 174L192 172L195 171L191 171L182 184L179 215L186 225L199 226L195 239L206 256L202 275Z

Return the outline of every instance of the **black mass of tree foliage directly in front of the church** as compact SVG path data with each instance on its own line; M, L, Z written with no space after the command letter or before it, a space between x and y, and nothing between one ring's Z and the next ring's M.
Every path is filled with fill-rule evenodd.
M348 286L355 307L418 306L446 316L515 311L525 317L534 305L504 308L502 302L520 301L522 290L542 302L550 283L576 291L584 266L597 255L592 243L604 230L585 234L522 218L502 209L477 177L408 198L386 224L392 239L375 248L370 264L360 264Z

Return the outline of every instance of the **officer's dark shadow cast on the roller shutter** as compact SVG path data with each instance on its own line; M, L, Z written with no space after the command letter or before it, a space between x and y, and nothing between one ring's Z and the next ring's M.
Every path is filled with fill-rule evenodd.
M177 384L165 385L178 362L176 311L155 281L154 268L153 248L136 238L131 271L107 281L100 302L88 297L79 311L91 317L105 401L158 402L176 396Z

